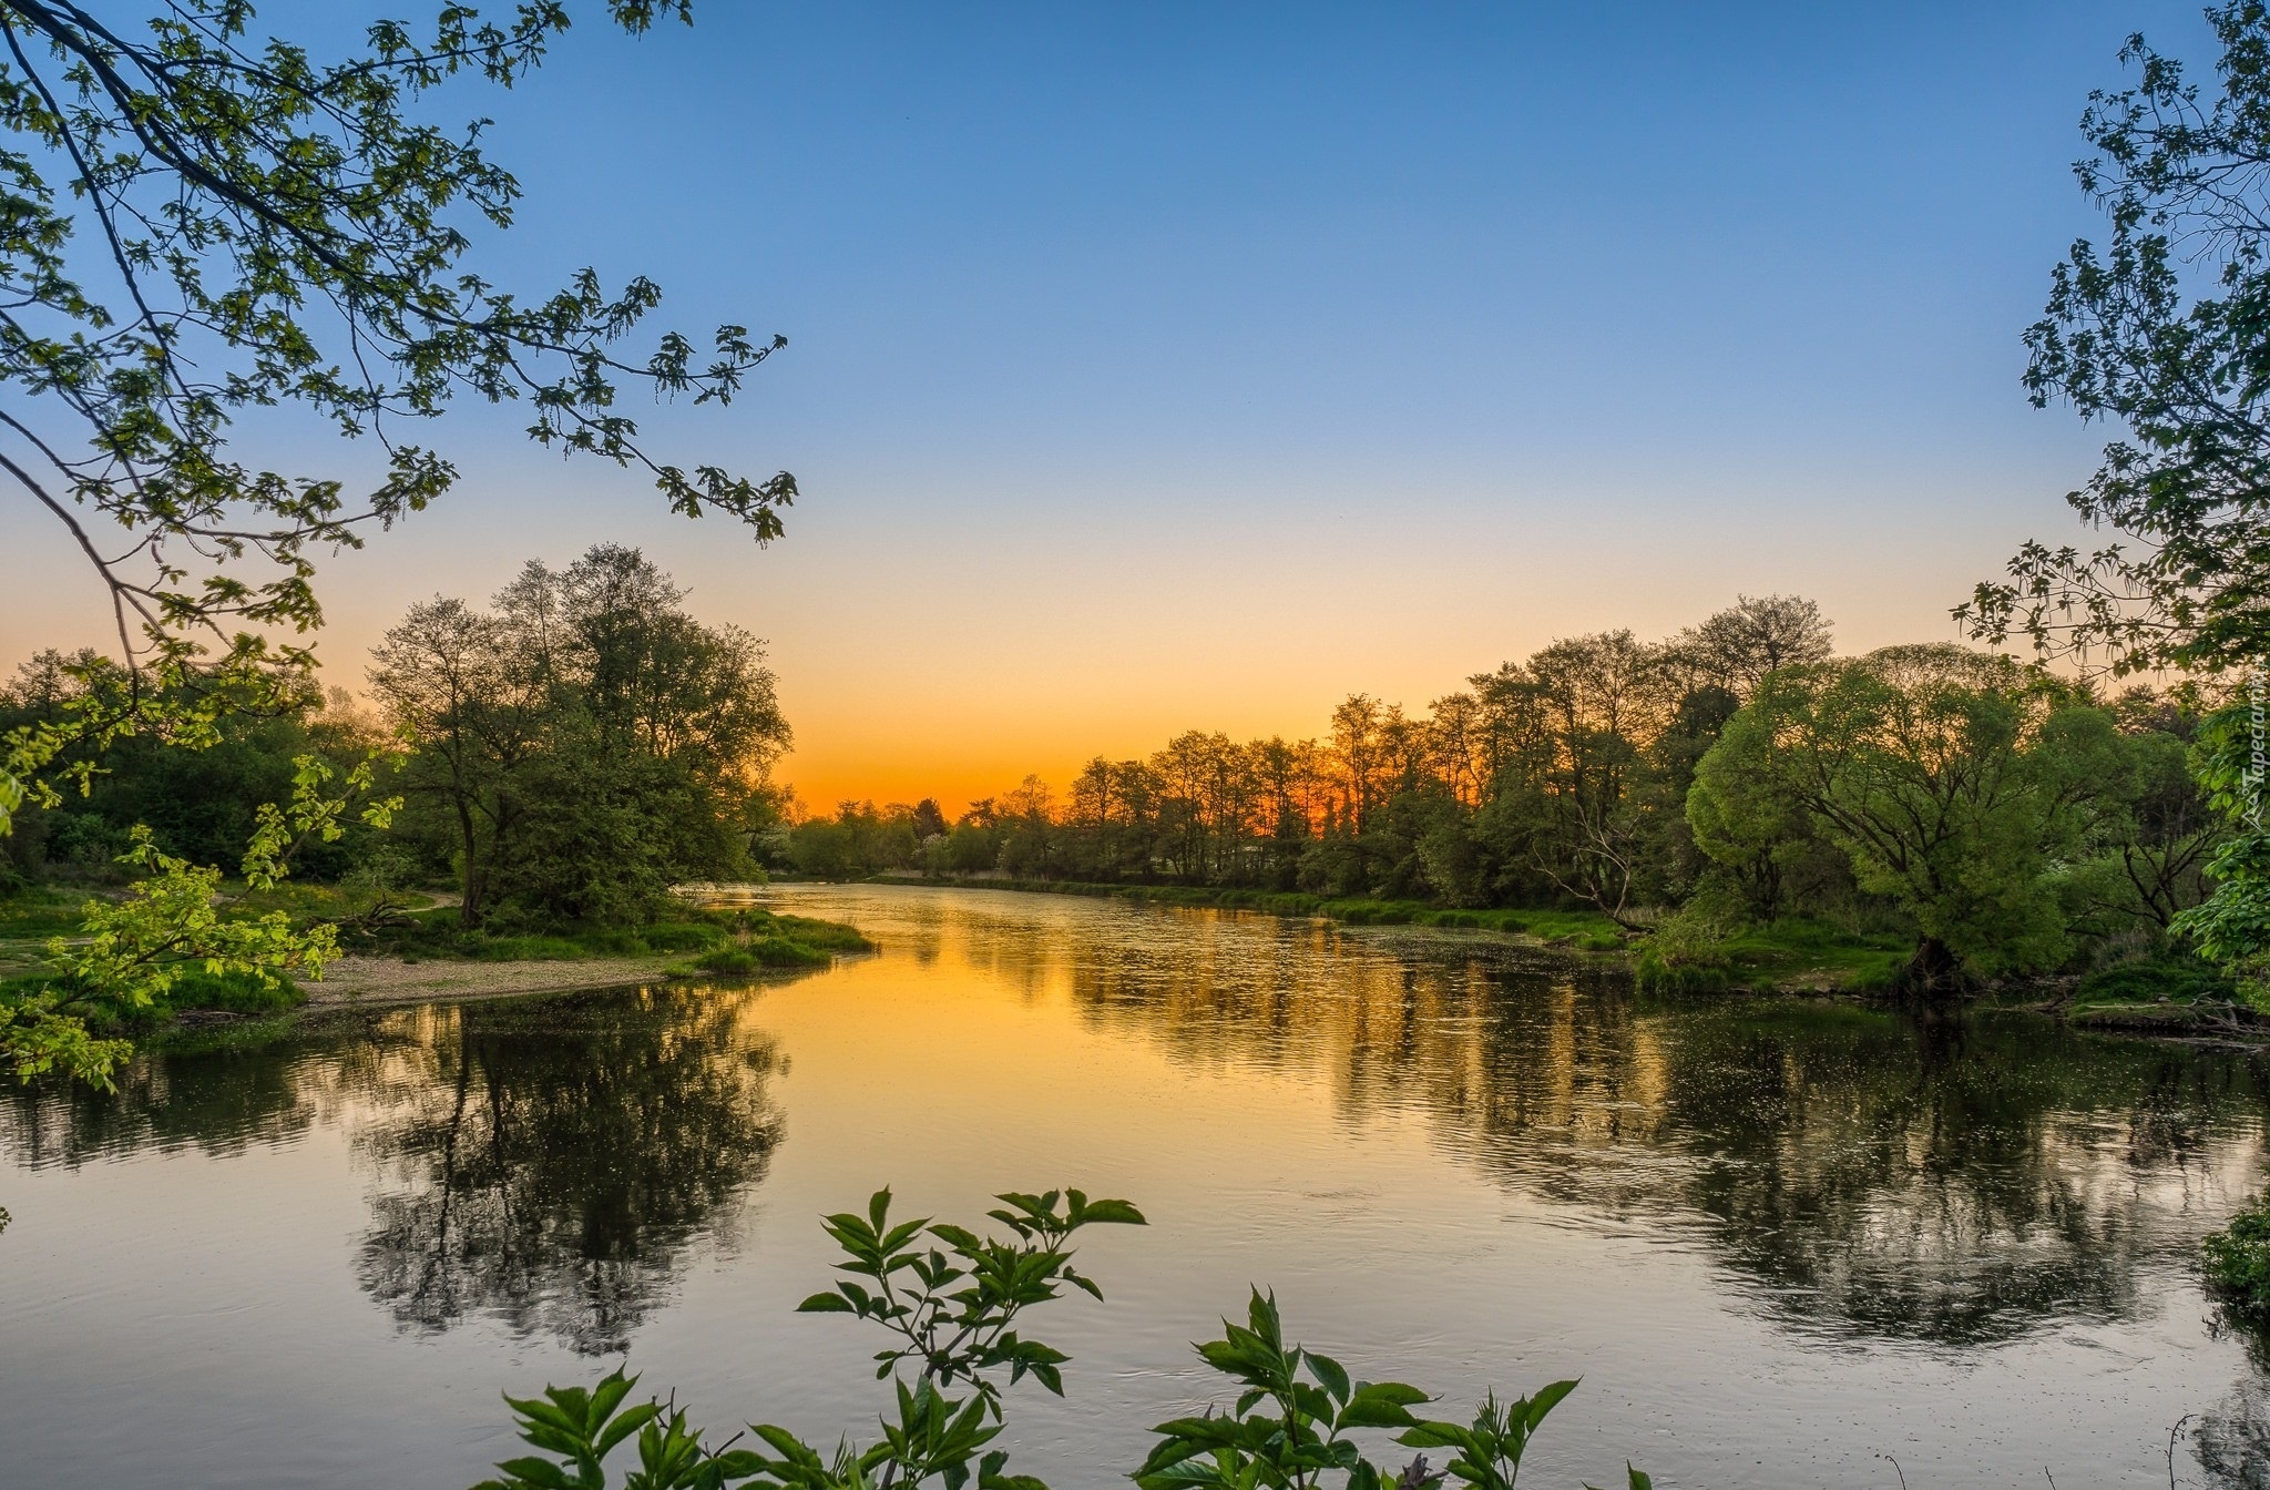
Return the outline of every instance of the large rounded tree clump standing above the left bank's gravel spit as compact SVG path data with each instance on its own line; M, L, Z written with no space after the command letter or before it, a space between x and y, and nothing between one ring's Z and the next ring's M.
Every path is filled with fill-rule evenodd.
M754 872L788 747L763 643L706 627L638 550L531 561L495 611L434 600L372 688L409 747L406 838L465 927L633 927L672 884Z

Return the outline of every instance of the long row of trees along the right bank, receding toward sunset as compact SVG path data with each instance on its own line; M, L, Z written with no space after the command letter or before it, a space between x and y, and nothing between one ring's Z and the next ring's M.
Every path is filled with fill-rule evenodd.
M1589 906L1727 934L1782 918L1916 938L1932 986L2161 936L2222 827L2191 690L2086 684L1957 645L1839 659L1809 600L1743 597L1664 643L1555 641L1423 715L1371 695L1314 740L1185 731L972 804L842 804L808 874L1003 872ZM1675 938L1673 938L1675 940Z

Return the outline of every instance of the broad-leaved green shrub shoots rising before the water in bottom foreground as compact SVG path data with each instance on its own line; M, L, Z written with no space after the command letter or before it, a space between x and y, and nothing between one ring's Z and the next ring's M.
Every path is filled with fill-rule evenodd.
M1008 1474L1008 1451L990 1447L1003 1429L997 1372L1010 1381L1031 1374L1062 1395L1065 1356L1019 1340L1019 1311L1060 1297L1069 1283L1096 1299L1092 1279L1071 1270L1065 1245L1081 1227L1142 1224L1142 1213L1119 1199L1087 1199L1078 1190L999 1195L992 1220L1008 1238L931 1220L890 1222L890 1190L878 1190L867 1215L831 1215L826 1231L844 1249L833 1292L813 1295L806 1313L851 1313L899 1336L878 1351L878 1379L892 1379L892 1411L878 1420L869 1447L840 1442L822 1454L792 1431L751 1424L763 1447L735 1447L745 1435L708 1445L674 1404L629 1404L638 1379L615 1370L597 1388L545 1388L543 1397L506 1397L520 1438L552 1458L522 1456L497 1465L499 1479L477 1490L604 1490L608 1458L624 1445L636 1467L624 1490L724 1490L781 1485L792 1490L913 1490L940 1483L962 1490L1046 1490L1028 1474ZM924 1245L924 1236L931 1245ZM1500 1404L1489 1395L1471 1424L1412 1415L1430 1397L1398 1381L1353 1381L1330 1356L1285 1345L1273 1297L1253 1292L1246 1324L1224 1322L1224 1338L1196 1347L1242 1392L1230 1413L1208 1411L1155 1429L1160 1442L1130 1476L1140 1490L1317 1490L1337 1474L1342 1490L1432 1490L1446 1479L1476 1490L1512 1490L1521 1456L1546 1415L1575 1390L1557 1381L1535 1397ZM917 1365L908 1383L899 1367ZM947 1392L962 1383L967 1397ZM1419 1454L1403 1470L1364 1458L1355 1431L1396 1433L1412 1449L1444 1449L1430 1470ZM1646 1474L1625 1470L1630 1490L1653 1490Z

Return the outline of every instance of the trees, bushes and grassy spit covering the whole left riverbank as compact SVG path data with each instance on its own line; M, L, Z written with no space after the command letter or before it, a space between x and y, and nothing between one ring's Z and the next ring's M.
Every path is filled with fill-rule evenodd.
M865 949L849 927L670 893L760 877L749 845L788 745L760 643L681 597L636 550L529 563L486 611L411 606L375 652L372 704L306 688L216 718L197 750L61 750L77 790L23 804L0 838L0 1006L43 1020L32 1063L109 1070L129 1033L247 1011L247 986L356 952L672 956L704 977ZM98 654L48 652L0 686L0 731L61 729L136 686ZM232 859L234 877L200 868Z

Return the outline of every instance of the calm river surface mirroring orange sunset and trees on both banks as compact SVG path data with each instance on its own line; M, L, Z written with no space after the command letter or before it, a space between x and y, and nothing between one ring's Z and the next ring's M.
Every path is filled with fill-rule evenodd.
M499 1390L624 1354L706 1422L833 1442L872 1424L876 1342L790 1313L826 1283L815 1217L1076 1183L1151 1227L1096 1236L1108 1301L1033 1331L1074 1365L1019 1399L1012 1467L1060 1490L1217 1399L1187 1342L1248 1283L1457 1406L1582 1374L1539 1485L1625 1456L1659 1485L2147 1485L2186 1415L2179 1483L2270 1485L2270 1392L2191 1261L2263 1165L2250 1056L1650 1002L1439 934L770 899L883 952L0 1104L0 1483L456 1490L513 1451Z

